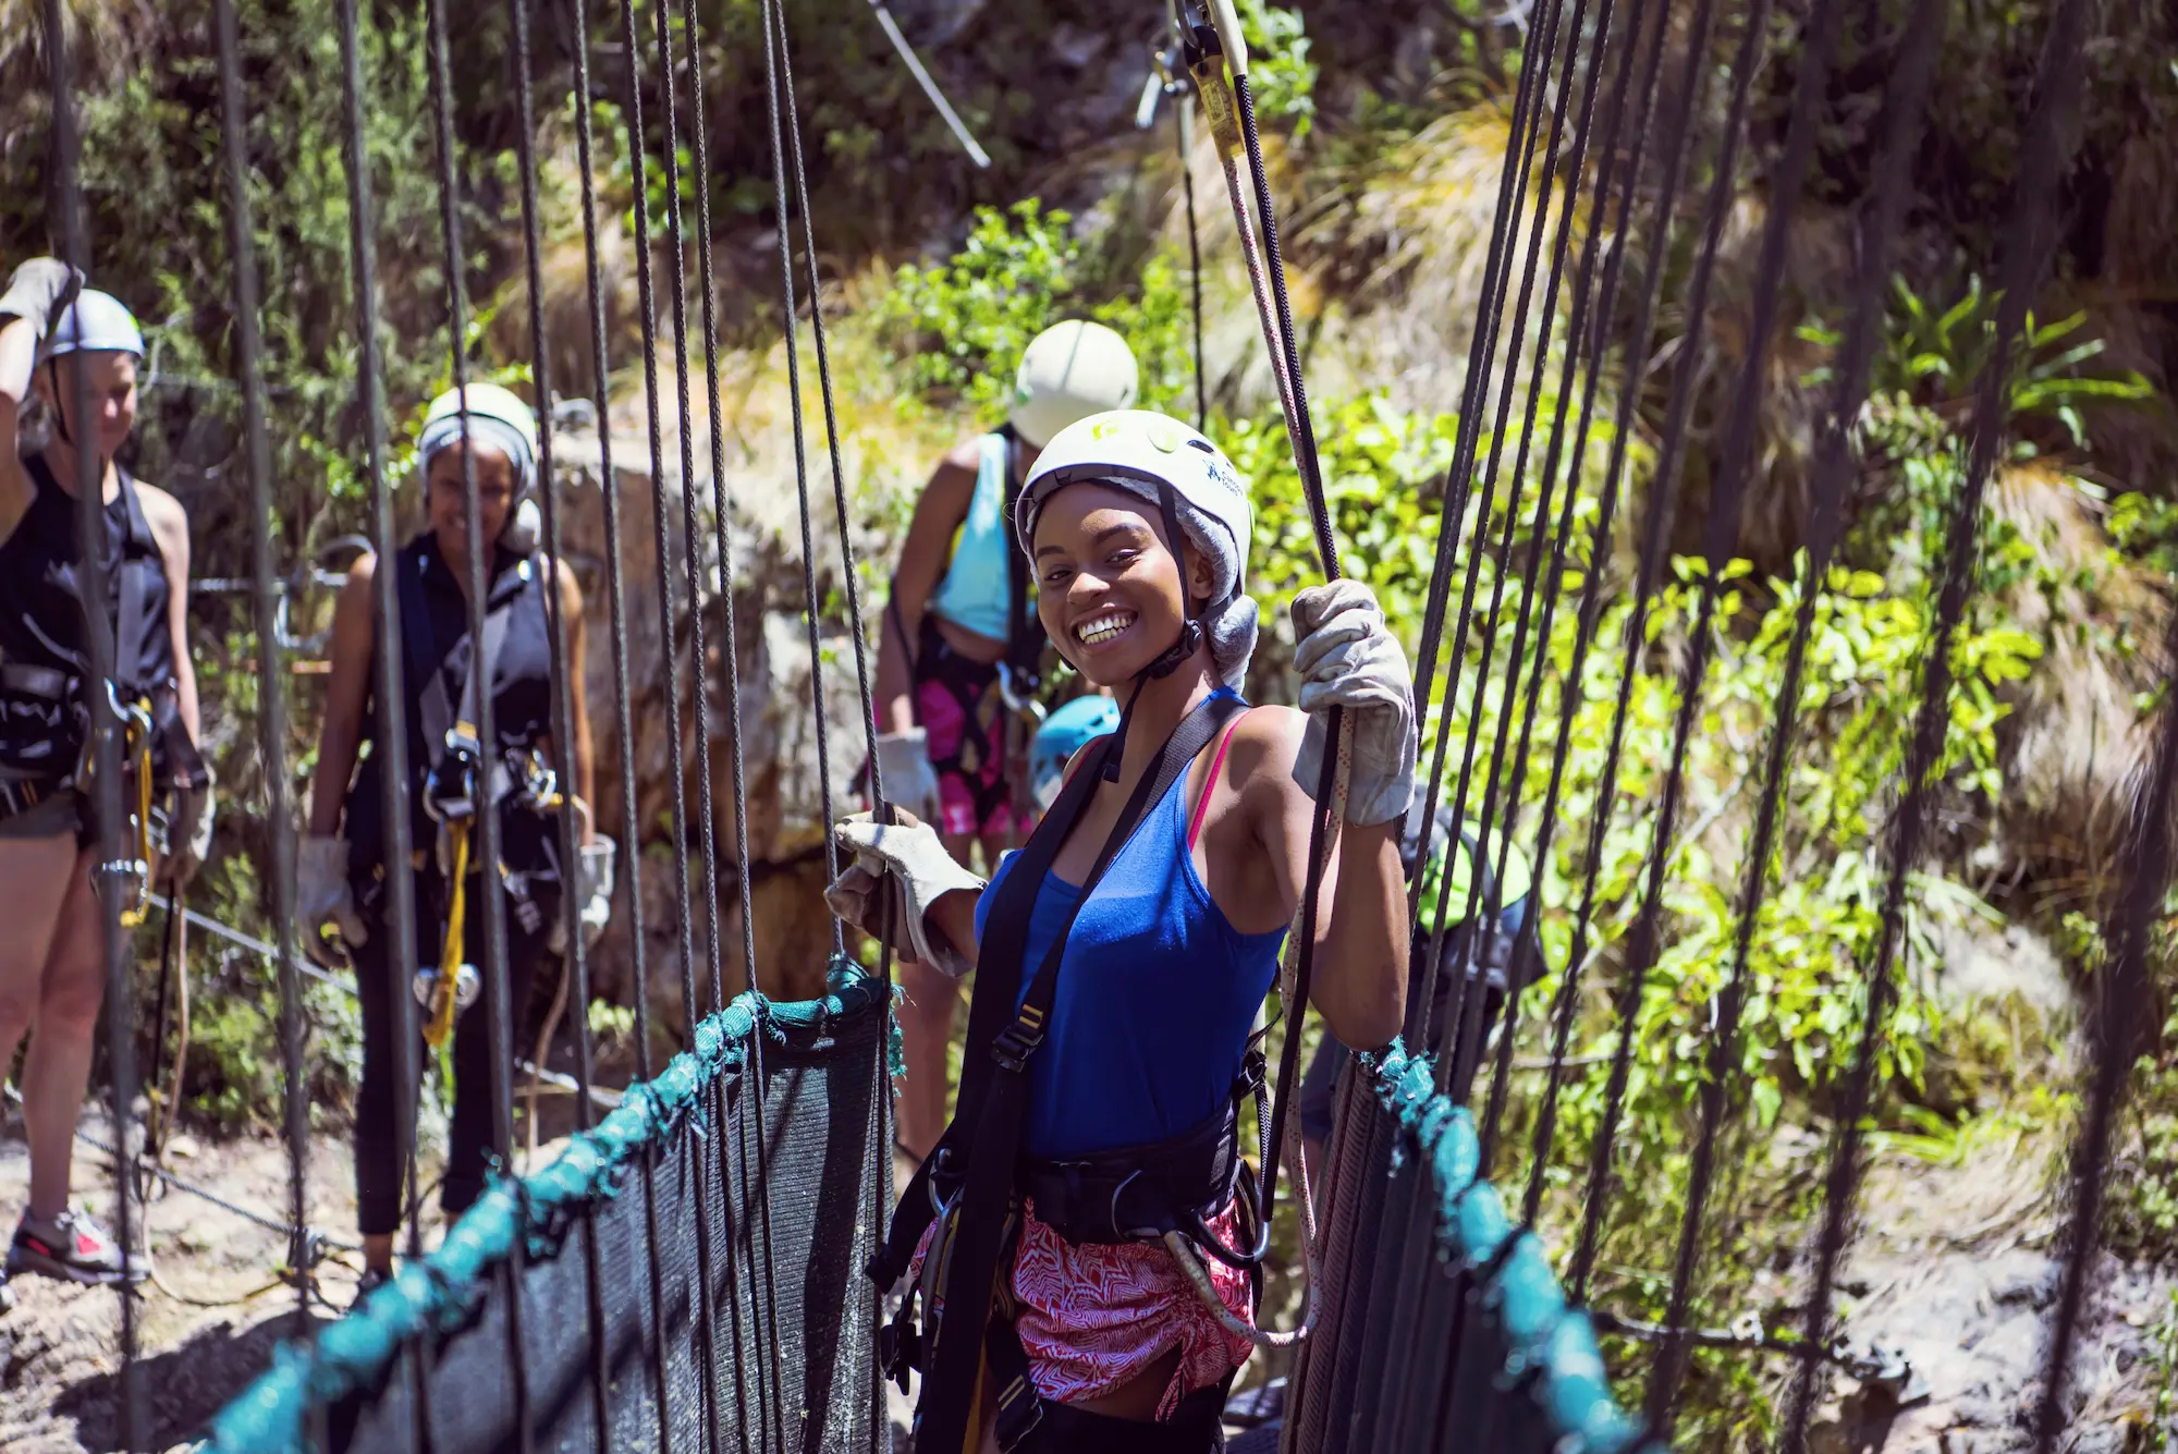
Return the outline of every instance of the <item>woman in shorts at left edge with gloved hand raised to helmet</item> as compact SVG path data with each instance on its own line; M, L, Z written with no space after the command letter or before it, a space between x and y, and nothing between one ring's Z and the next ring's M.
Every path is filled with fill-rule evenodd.
M107 984L100 923L113 908L100 905L94 888L98 825L85 812L87 692L98 688L76 594L85 431L107 503L102 629L113 633L113 694L124 707L146 707L124 755L139 760L148 749L152 781L187 779L196 821L209 818L192 747L196 675L174 605L189 599L189 520L174 496L113 461L135 424L144 335L115 298L76 296L78 285L68 266L39 257L0 294L0 435L15 442L0 448L0 1067L30 1034L22 1071L30 1206L7 1265L11 1273L118 1282L148 1276L148 1262L68 1206L70 1145ZM33 387L52 438L44 451L17 455ZM78 414L83 392L87 416ZM135 818L126 827L135 834ZM179 827L183 853L161 868L170 879L194 868L194 825ZM148 858L142 842L122 855ZM129 899L139 888L111 879L111 892Z

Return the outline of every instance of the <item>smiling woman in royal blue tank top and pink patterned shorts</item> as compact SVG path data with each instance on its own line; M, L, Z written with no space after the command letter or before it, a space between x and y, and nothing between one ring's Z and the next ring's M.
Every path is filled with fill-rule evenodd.
M1233 1332L1252 1323L1252 1293L1246 1273L1174 1249L1159 1228L1196 1247L1246 1245L1250 1184L1239 1178L1235 1191L1213 1169L1231 1169L1241 1143L1241 1071L1309 877L1311 790L1333 707L1344 710L1353 771L1320 886L1311 1008L1353 1047L1398 1034L1411 681L1374 596L1339 581L1292 607L1300 710L1237 701L1257 636L1257 607L1241 594L1252 512L1231 461L1176 420L1128 411L1063 431L1015 522L1052 642L1091 686L1113 690L1124 716L1076 755L1052 814L989 884L950 860L928 825L862 818L839 829L854 866L828 892L834 910L926 964L978 975L960 1110L919 1173L928 1195L902 1197L889 1249L913 1249L928 1204L978 1195L987 1158L1000 1158L1024 1204L1017 1254L1000 1254L1000 1276L1041 1406L1017 1450L1122 1439L1209 1450L1222 1387L1252 1345ZM1202 747L1167 760L1183 729L1194 734L1187 749ZM1148 801L1128 825L1137 790ZM895 888L880 892L884 882ZM880 914L886 901L906 912ZM1043 979L1054 945L1056 977ZM1024 1067L1017 1077L1000 1069L1008 1060ZM1006 1123L993 1106L1021 1106L1017 1145L993 1145L982 1130ZM1298 1160L1285 1160L1296 1180ZM969 1225L967 1212L954 1225ZM945 1265L971 1256L954 1245ZM1207 1282L1183 1278L1176 1256L1200 1260ZM908 1271L904 1258L897 1271ZM954 1302L980 1293L937 1276L950 1330ZM980 1308L967 1317L982 1328ZM930 1317L921 1336L928 1347ZM969 1395L923 1373L919 1419L930 1415L950 1447ZM1154 1439L1143 1421L1159 1421Z

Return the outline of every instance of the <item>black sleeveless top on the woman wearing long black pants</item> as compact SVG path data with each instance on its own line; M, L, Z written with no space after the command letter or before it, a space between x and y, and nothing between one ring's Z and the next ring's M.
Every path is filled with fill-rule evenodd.
M449 703L462 701L470 657L468 596L462 594L462 586L440 555L431 531L423 531L401 546L392 568L405 577L396 579L394 596L401 601L403 692L407 694L401 718L407 736L409 842L423 849L438 836L438 825L425 812L425 779L446 749L444 738L431 742L425 729L425 673L438 673ZM492 562L492 586L484 609L486 614L505 612L505 636L492 670L492 734L501 755L527 751L551 736L551 627L544 614L544 575L542 557L497 551ZM372 657L379 651L383 651L383 640L372 646ZM364 740L372 744L372 751L364 755L342 808L351 864L357 868L377 868L386 858L375 749L379 734L377 679L377 662L372 660L372 688L364 703ZM507 871L555 875L553 836L558 829L549 818L501 808L499 825L501 864Z

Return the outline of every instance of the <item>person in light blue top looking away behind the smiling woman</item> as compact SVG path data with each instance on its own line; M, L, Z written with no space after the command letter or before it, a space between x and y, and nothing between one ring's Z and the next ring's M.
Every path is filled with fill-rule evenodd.
M1111 329L1045 329L1024 350L1006 424L945 455L900 542L878 633L878 771L886 801L934 825L960 862L980 849L995 864L1035 823L1035 723L1008 697L1026 705L1045 642L1008 507L1045 440L1130 405L1135 387L1135 355ZM945 1128L945 1047L960 995L913 960L900 984L900 1141L921 1156Z

